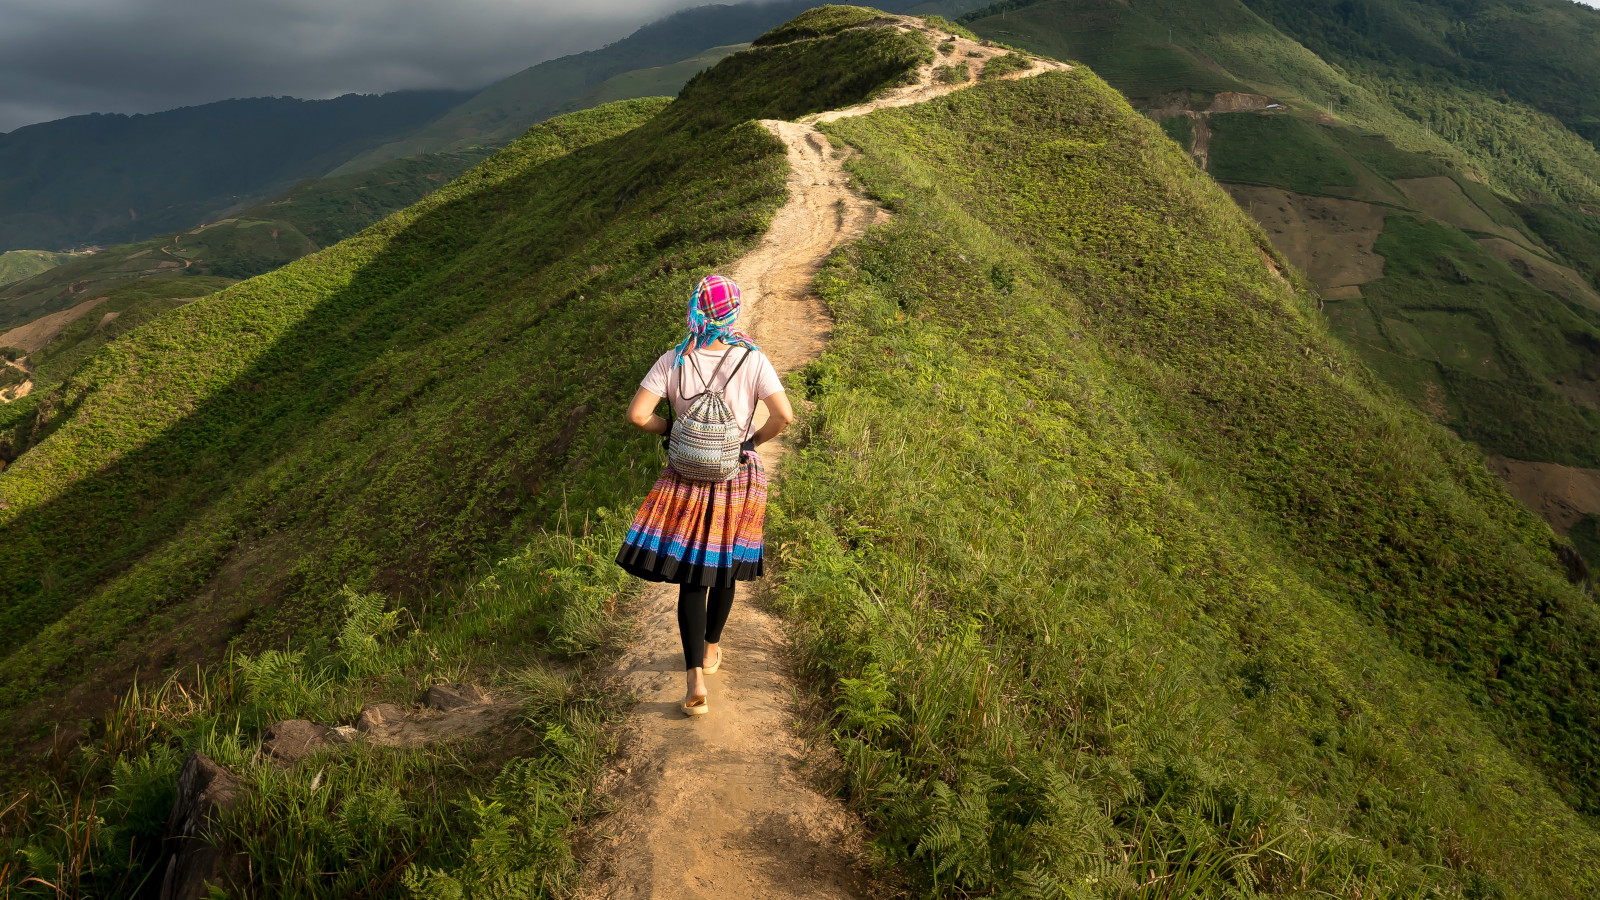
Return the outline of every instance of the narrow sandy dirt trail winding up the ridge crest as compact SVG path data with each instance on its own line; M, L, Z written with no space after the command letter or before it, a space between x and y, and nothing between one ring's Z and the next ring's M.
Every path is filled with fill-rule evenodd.
M946 40L920 19L894 16L899 29ZM917 82L885 96L800 122L765 120L789 149L789 199L762 243L728 275L746 296L750 336L781 376L818 357L830 320L811 282L837 247L888 221L850 187L843 162L814 125L878 109L923 102L976 82L1005 51L957 38L950 53L917 70ZM971 80L942 83L936 67L970 64ZM1066 69L1035 61L1010 77ZM765 415L765 410L763 410ZM778 474L782 442L762 450ZM776 484L776 482L774 482ZM683 653L677 588L646 586L637 605L638 642L606 673L638 698L621 735L603 791L613 812L589 852L589 900L768 900L866 897L854 846L859 828L843 806L797 772L795 681L782 623L739 589L723 631L726 661L709 676L710 714L678 711Z

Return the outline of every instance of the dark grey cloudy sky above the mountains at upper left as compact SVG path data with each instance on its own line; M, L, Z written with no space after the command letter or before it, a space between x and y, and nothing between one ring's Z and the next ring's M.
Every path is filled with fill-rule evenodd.
M0 133L82 112L155 112L237 96L475 88L690 5L0 0Z

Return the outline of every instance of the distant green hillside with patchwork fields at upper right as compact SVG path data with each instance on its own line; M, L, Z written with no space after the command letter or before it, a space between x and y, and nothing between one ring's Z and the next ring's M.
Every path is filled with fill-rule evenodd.
M1571 19L1582 35L1600 21L1560 6L1477 3L1461 13L1477 37L1440 24L1456 14L1448 3L1398 2L1013 2L965 21L1082 59L1147 110L1418 408L1486 452L1576 466L1584 480L1600 466L1600 152L1558 119L1581 110L1549 90L1498 88L1506 59L1469 66L1438 50L1488 53L1482 22ZM1432 43L1405 37L1422 34L1416 16ZM1594 77L1579 56L1538 66L1578 91Z

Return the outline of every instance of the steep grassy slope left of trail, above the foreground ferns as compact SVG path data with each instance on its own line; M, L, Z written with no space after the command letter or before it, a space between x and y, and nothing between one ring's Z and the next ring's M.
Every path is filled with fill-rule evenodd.
M357 239L107 346L0 474L8 703L106 658L315 623L344 583L459 580L566 504L643 488L600 412L781 199L781 146L739 123L854 102L928 53L853 32L734 54L626 138L662 101L538 128Z

